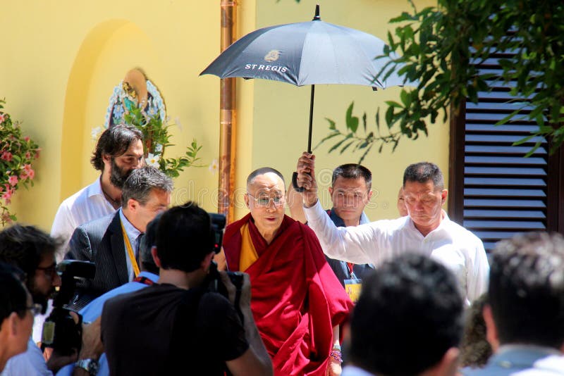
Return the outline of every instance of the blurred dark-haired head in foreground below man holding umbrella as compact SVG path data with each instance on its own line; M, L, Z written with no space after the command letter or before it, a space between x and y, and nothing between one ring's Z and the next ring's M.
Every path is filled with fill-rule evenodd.
M362 282L350 322L350 361L376 375L418 375L462 335L455 277L426 256L405 253Z

